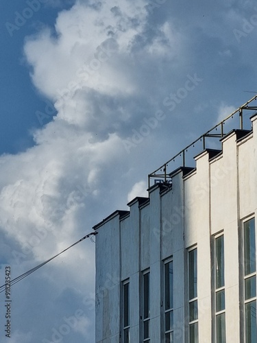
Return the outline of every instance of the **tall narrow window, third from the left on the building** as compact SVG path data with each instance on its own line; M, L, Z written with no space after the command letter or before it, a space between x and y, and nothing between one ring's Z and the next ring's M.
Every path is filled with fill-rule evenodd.
M173 261L164 262L165 343L173 342Z

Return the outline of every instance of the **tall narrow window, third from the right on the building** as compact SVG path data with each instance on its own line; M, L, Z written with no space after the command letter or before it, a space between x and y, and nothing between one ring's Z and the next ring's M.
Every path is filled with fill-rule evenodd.
M188 252L189 342L198 343L197 248Z

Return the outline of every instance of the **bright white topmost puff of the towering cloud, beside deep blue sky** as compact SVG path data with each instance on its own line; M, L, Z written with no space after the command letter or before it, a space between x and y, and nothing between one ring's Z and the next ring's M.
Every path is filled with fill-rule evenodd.
M145 0L102 1L99 7L77 3L60 12L57 38L47 28L25 44L34 83L52 99L67 89L72 97L83 86L112 95L133 92L120 57L142 34L146 17Z

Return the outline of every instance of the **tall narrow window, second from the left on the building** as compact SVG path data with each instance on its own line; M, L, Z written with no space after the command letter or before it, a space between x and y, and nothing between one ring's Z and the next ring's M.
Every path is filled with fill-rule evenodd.
M143 273L143 342L150 342L150 272Z

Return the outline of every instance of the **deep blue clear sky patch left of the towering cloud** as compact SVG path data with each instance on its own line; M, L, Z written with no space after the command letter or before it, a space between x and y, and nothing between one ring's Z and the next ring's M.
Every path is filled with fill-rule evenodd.
M23 55L24 40L26 36L35 34L42 25L53 27L60 8L71 7L73 1L61 2L61 5L57 1L56 5L41 3L40 10L33 11L33 16L25 19L24 25L19 29L9 26L9 30L7 23L15 25L16 12L22 14L27 4L23 0L1 2L0 40L3 48L0 57L0 90L3 101L0 110L4 120L0 128L2 137L0 153L21 152L33 144L29 132L40 126L35 113L37 110L44 110L45 99L40 96L29 78L29 65Z

